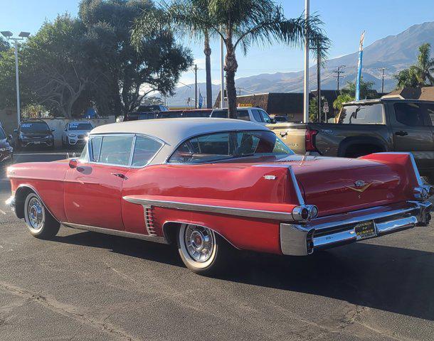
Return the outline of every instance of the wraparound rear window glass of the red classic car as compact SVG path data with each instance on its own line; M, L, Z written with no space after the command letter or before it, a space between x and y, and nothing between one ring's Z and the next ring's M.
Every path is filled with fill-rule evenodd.
M289 156L272 131L233 131L196 136L181 144L169 163L203 163L245 156Z

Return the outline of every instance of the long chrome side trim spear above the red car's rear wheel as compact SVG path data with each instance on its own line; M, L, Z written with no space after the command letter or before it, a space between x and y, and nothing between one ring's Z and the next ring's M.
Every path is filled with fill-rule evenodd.
M208 212L208 213L217 213L221 215L236 215L238 217L253 217L253 218L270 219L270 220L284 220L284 221L293 220L291 212L251 210L248 208L191 204L191 203L179 202L179 201L137 199L128 196L123 197L123 199L126 200L127 202L132 202L133 204L138 204L142 206L152 205L152 206L164 207L164 208L174 208L176 210Z

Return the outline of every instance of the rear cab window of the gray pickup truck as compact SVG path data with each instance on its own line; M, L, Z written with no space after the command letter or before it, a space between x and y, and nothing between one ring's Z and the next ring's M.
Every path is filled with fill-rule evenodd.
M383 104L346 105L339 115L342 124L383 124Z

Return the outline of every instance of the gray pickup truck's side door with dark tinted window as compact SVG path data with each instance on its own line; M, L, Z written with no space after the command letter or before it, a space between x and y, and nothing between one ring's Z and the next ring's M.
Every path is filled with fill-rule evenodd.
M391 128L395 151L410 151L418 168L430 168L433 160L433 131L423 113L423 104L398 102L393 104Z

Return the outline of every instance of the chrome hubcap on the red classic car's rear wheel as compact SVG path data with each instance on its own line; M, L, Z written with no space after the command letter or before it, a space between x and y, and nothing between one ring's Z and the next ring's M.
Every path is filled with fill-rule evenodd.
M214 238L211 229L189 225L184 235L186 249L195 261L208 261L213 253Z

